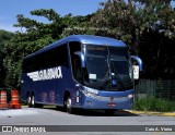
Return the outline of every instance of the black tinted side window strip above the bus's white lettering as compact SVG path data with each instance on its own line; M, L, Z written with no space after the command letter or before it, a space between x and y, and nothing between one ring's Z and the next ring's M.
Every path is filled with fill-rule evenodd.
M68 66L67 45L61 45L23 61L23 72L33 72L57 65Z

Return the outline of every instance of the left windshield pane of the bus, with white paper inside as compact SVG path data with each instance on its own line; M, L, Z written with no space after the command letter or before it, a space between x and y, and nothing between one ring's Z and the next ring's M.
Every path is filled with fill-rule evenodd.
M85 46L85 83L100 88L108 75L107 48L103 46Z

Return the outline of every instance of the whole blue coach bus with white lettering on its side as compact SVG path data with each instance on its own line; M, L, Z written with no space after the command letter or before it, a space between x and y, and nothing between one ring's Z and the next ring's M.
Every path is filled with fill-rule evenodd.
M24 58L21 98L28 107L54 105L105 110L107 114L133 106L132 59L121 40L71 35Z

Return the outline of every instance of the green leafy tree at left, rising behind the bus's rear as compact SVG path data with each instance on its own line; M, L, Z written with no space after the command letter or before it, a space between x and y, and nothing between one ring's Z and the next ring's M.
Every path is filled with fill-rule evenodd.
M3 66L5 69L5 85L18 87L21 84L21 65L25 56L58 40L67 25L69 25L71 15L60 17L52 9L31 11L32 15L44 16L50 23L40 23L35 20L24 17L19 14L15 27L25 28L25 33L16 32L14 37L4 46L7 53Z

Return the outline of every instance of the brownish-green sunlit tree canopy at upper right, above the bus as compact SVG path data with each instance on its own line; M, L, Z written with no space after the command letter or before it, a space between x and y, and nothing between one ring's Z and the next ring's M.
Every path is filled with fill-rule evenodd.
M135 0L110 0L102 4L91 25L105 27L103 36L120 38L130 45L133 53L139 53L140 38L143 33L152 30L164 33L173 38L175 12L167 3L159 3L156 0L139 4Z

